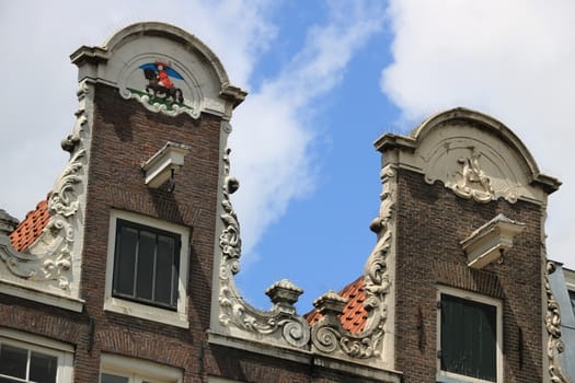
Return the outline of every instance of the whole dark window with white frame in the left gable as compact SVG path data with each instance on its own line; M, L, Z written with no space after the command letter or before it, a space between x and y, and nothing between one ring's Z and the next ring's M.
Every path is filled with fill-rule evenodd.
M114 210L104 310L187 328L188 237L187 228Z

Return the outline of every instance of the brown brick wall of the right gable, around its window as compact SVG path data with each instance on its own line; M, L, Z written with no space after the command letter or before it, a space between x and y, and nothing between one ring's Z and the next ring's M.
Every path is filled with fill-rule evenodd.
M498 213L526 230L502 265L470 269L459 242ZM435 381L438 286L503 301L504 381L542 381L541 213L526 201L478 204L398 172L395 368L405 382Z

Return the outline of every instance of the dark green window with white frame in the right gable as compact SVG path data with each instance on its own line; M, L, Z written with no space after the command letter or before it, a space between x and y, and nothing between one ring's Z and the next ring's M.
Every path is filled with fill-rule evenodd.
M499 382L501 304L457 291L439 303L438 381Z

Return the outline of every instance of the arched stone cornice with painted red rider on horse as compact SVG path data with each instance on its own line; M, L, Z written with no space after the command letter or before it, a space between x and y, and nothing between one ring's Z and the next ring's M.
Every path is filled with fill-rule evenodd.
M151 51L150 46L161 49ZM168 116L198 118L209 113L229 118L246 95L230 84L220 60L204 43L165 23L128 25L102 46L80 47L70 59L80 80L117 88L124 98Z

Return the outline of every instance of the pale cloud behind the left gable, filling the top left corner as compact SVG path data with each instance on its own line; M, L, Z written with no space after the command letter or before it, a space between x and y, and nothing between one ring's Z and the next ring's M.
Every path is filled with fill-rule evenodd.
M258 55L274 37L268 1L14 1L0 3L4 76L0 86L0 209L23 219L45 198L68 155L60 139L77 107L77 69L68 56L102 45L142 20L193 32L221 59L234 85L248 86Z

